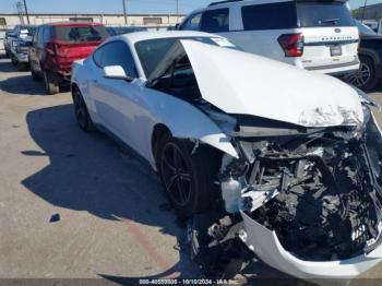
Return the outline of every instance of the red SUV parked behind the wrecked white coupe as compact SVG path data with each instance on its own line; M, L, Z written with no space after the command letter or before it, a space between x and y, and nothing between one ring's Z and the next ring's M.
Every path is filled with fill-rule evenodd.
M48 94L57 94L68 83L72 63L86 58L108 37L96 23L62 22L38 26L29 51L33 80L44 79Z

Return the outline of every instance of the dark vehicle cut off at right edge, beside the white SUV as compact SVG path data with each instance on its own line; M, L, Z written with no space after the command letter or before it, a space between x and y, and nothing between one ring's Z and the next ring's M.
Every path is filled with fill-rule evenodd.
M382 79L382 35L357 21L360 34L359 59L357 72L346 75L344 80L358 88L371 92Z

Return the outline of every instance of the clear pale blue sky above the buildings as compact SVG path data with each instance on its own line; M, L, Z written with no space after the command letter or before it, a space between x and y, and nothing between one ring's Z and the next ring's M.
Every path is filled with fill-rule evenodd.
M0 13L14 13L16 0L0 0ZM121 13L122 0L26 0L31 13ZM129 13L175 13L176 0L127 0ZM188 13L213 0L179 0L179 11ZM365 0L349 0L351 9ZM368 0L369 4L382 0Z

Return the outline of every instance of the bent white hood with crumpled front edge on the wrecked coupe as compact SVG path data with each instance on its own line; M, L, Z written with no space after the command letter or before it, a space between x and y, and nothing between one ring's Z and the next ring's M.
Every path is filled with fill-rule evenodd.
M355 126L363 121L357 92L334 78L195 40L181 44L202 97L227 114L303 127Z

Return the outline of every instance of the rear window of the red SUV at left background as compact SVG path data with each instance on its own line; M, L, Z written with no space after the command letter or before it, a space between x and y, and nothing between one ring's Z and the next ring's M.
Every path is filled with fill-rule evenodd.
M104 26L57 26L53 36L64 41L100 41L107 37Z

